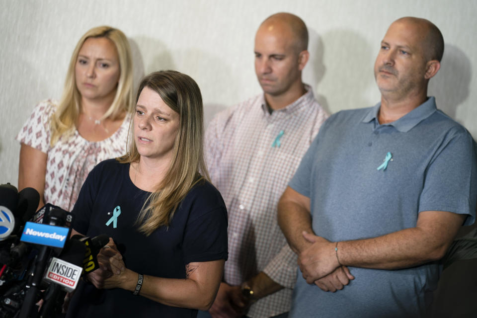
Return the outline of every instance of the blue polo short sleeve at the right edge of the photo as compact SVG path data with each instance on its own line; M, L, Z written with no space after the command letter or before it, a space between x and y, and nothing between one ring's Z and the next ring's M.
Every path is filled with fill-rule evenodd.
M456 130L448 133L429 163L419 212L467 214L464 225L471 225L475 221L477 200L476 143L464 128Z

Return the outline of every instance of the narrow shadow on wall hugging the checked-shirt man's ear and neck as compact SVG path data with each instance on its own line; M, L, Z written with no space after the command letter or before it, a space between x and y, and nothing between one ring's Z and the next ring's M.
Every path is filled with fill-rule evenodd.
M326 98L323 95L318 94L318 90L315 91L326 73L326 67L323 64L323 42L317 31L312 28L308 28L308 37L308 52L310 52L310 60L303 70L303 81L312 86L318 103L327 113L330 113Z

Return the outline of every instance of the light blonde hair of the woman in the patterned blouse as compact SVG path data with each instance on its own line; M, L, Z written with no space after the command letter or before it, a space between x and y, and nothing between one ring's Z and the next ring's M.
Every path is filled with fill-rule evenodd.
M78 44L71 56L70 66L66 74L65 87L60 103L53 114L51 125L51 146L54 146L62 137L70 136L75 130L75 123L78 120L80 111L81 94L79 93L76 77L75 66L78 60L79 50L83 46L84 41L88 38L107 38L116 46L119 59L120 76L116 95L102 119L111 117L118 118L124 111L128 112L133 104L133 62L131 57L131 48L128 39L118 29L110 26L98 26L88 30L79 39Z

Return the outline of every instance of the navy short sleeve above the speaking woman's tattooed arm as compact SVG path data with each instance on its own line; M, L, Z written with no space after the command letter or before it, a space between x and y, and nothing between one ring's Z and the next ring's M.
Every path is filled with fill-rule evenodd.
M227 260L227 209L219 191L208 184L206 192L195 196L191 209L182 246L185 264Z

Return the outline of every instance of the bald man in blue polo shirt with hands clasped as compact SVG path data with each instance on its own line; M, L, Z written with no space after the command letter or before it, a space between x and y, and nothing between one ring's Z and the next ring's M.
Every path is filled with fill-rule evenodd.
M398 19L381 42L381 102L322 126L280 199L298 254L290 317L422 317L440 259L476 214L476 144L427 96L444 40L430 21ZM336 293L316 281L340 266Z

